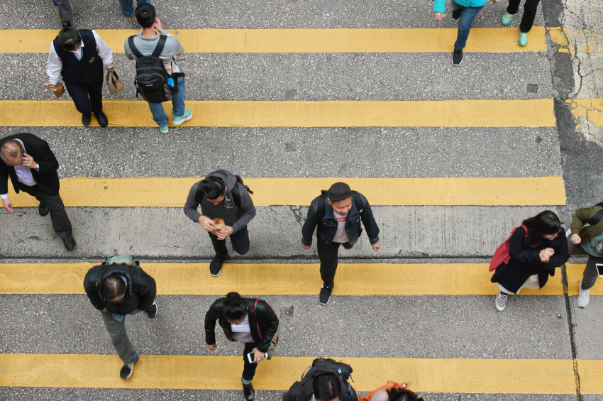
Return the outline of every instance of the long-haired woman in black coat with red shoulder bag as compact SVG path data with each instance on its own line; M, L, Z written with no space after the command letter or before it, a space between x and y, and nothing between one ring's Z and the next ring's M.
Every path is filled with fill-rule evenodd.
M521 288L536 290L544 287L548 276L555 275L570 258L568 240L558 216L545 210L521 222L509 238L509 263L502 263L492 276L499 288L494 302L502 312L507 307L509 294L517 294Z

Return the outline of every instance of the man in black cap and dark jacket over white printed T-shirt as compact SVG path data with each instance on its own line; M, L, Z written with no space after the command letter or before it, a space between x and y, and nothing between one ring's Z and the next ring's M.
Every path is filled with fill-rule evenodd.
M319 302L323 305L328 304L333 292L339 246L345 249L354 246L363 231L360 221L365 226L372 249L379 251L379 227L363 194L352 191L345 182L336 182L310 204L302 226L302 248L311 248L316 229L316 249L323 280Z

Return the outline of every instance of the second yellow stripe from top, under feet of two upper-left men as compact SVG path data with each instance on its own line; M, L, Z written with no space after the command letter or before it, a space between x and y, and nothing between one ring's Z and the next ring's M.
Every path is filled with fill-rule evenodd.
M132 89L133 90L133 89ZM168 115L171 102L164 104ZM183 126L217 127L552 127L553 99L533 100L190 100L193 118ZM147 102L105 100L109 126L153 127ZM479 112L476 112L479 111ZM23 115L28 116L23 119ZM509 115L514 118L509 119ZM98 125L92 119L92 125ZM82 126L69 100L0 101L0 126ZM170 126L172 122L170 119ZM159 131L157 131L159 132Z

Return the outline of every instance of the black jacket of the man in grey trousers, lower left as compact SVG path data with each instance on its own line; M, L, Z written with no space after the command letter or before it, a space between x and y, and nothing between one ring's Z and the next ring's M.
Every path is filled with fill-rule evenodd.
M99 288L96 287L96 278L99 271L106 267L102 275L101 282L112 274L120 274L126 278L126 295L121 302L106 302L99 295ZM134 269L135 270L134 272ZM155 301L157 295L157 285L155 280L137 266L128 265L98 265L88 270L84 278L84 290L92 305L99 310L104 308L115 314L128 314L136 309L145 310Z

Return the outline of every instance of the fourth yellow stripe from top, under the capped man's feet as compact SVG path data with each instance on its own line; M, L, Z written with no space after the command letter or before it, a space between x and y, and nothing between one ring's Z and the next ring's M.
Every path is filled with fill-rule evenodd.
M84 294L84 275L99 263L0 264L0 294ZM159 295L315 295L322 283L315 263L226 263L211 279L209 263L143 263L143 269L155 278ZM260 276L267 280L253 279ZM340 263L333 294L495 295L491 277L485 263ZM560 276L521 295L563 295Z

